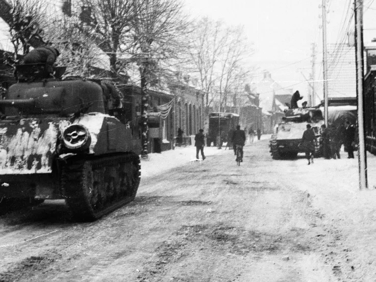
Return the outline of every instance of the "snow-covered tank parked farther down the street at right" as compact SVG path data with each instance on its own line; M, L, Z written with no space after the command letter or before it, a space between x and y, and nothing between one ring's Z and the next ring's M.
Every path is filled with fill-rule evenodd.
M304 152L302 137L310 123L316 135L315 156L322 153L320 127L324 124L322 112L318 108L296 108L285 111L282 122L274 127L270 139L270 152L275 160L294 158Z

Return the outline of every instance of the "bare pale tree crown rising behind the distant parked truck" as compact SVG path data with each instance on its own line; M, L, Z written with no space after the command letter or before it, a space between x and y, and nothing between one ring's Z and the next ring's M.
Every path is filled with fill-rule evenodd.
M206 109L219 99L219 110L233 100L248 79L247 58L252 55L244 31L221 21L203 18L195 25L190 55L206 94Z

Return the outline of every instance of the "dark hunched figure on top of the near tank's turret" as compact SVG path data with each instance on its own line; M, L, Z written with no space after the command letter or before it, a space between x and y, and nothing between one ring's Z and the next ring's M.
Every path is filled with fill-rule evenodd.
M46 76L54 73L54 64L60 55L58 49L51 46L41 46L31 50L26 54L22 62L23 64L46 64Z

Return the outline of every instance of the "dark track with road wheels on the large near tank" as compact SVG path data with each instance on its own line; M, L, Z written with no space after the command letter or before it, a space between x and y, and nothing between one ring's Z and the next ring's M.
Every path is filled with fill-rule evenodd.
M140 184L135 153L69 160L62 166L62 192L73 216L93 221L134 200Z

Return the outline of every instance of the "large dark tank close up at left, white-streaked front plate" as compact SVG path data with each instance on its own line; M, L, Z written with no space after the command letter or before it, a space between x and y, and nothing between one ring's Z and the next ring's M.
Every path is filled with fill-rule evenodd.
M43 65L16 69L0 100L0 205L65 199L90 221L131 202L141 147L129 97L110 82L62 80L64 67L56 78L44 78Z

